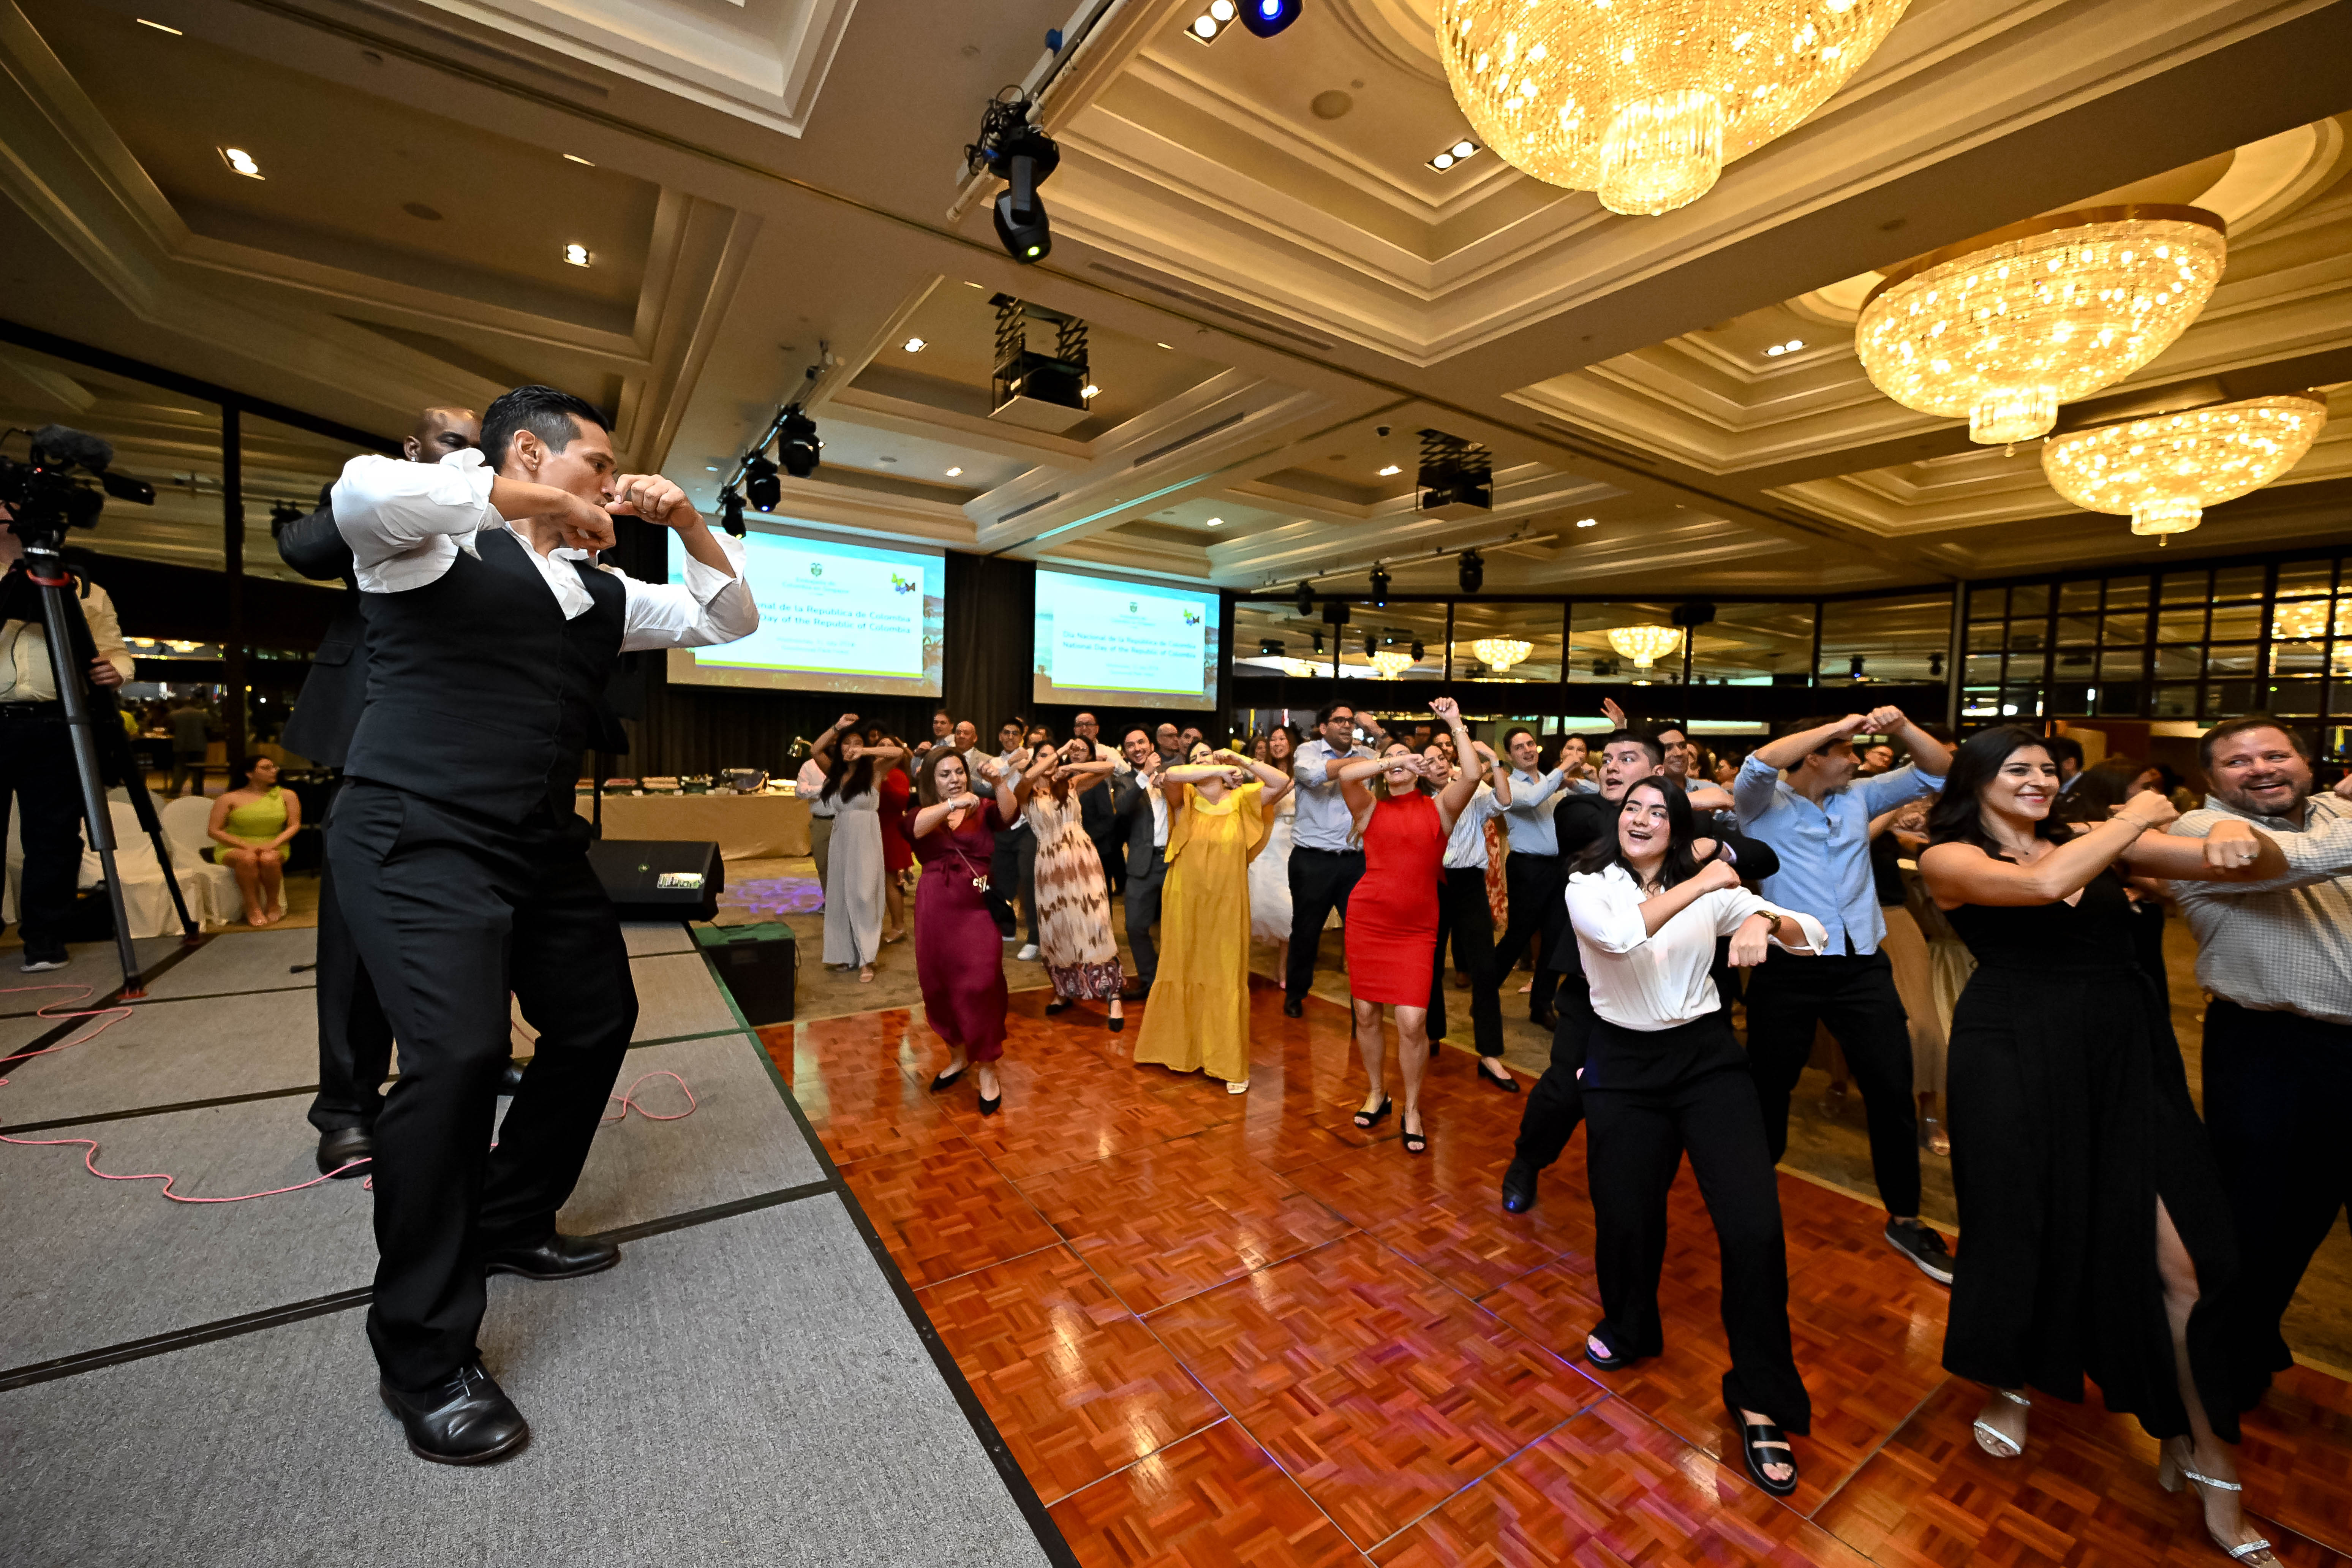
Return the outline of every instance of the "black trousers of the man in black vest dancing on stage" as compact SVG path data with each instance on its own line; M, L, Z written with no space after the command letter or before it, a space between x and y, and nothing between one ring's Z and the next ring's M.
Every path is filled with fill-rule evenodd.
M510 825L365 778L327 823L336 900L400 1037L376 1117L367 1312L395 1387L477 1354L482 1258L553 1232L637 1027L628 945L586 851L569 809ZM492 1150L508 994L539 1048Z

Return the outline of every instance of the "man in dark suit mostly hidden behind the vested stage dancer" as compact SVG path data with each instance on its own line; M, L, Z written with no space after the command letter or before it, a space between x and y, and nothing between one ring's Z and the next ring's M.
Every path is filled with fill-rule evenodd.
M400 451L409 463L440 463L452 451L482 442L482 416L473 409L426 409ZM306 578L341 578L343 602L310 658L310 675L285 726L292 752L329 769L343 766L350 731L367 703L367 621L353 581L350 545L334 531L334 510L320 508L278 534L278 559ZM336 790L341 792L341 780ZM325 816L325 813L322 813ZM383 1077L393 1065L393 1025L376 1001L376 987L350 943L350 926L334 898L334 860L318 872L318 1095L310 1126L318 1128L320 1173L365 1175L376 1154L376 1114L383 1110Z

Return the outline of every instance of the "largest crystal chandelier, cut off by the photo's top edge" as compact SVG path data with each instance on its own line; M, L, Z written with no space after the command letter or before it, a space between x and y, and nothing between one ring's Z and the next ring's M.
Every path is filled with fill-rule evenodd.
M1437 0L1479 141L1611 212L1698 200L1820 108L1907 0Z

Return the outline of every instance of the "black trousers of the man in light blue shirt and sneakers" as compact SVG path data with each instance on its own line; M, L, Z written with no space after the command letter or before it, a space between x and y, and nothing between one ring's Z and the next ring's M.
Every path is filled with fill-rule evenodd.
M1813 1056L1813 1025L1828 1025L1863 1091L1879 1201L1903 1220L1919 1213L1919 1100L1912 1098L1907 1020L1886 952L1809 959L1776 950L1748 971L1748 1065L1773 1164L1788 1154L1788 1100Z

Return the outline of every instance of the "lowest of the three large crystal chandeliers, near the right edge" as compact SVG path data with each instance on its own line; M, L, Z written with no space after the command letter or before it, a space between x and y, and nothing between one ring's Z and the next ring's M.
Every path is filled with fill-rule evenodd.
M2093 512L2129 512L2133 534L2187 534L2204 508L2249 496L2303 461L2328 423L2317 393L2074 430L2042 444L2042 473Z

